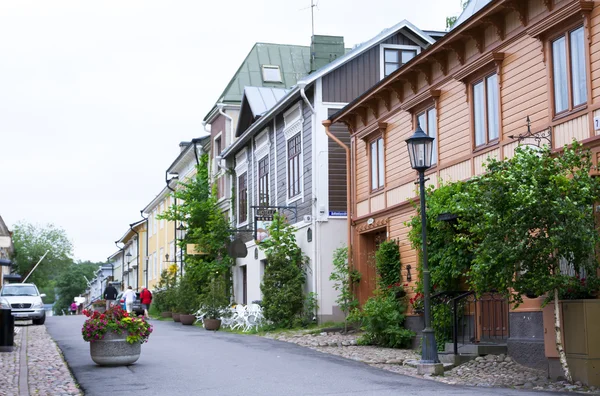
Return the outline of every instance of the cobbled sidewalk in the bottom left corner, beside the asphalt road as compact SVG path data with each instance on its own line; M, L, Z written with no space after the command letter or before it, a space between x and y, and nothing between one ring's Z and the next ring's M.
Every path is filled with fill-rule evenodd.
M0 352L0 394L82 395L46 326L15 326L15 349Z

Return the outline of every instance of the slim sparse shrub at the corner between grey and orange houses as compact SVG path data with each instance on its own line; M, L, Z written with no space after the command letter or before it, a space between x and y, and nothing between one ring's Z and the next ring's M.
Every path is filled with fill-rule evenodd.
M344 331L348 331L348 314L358 307L358 299L352 289L360 281L360 272L350 269L347 247L337 248L333 252L333 271L329 280L334 282L333 288L338 292L335 302L344 313Z

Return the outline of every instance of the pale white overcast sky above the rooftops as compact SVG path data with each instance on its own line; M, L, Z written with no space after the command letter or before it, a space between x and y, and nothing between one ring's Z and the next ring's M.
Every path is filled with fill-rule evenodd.
M444 30L460 0L315 0L346 47L407 19ZM0 0L0 215L66 230L104 261L202 134L255 42L310 45L310 0Z

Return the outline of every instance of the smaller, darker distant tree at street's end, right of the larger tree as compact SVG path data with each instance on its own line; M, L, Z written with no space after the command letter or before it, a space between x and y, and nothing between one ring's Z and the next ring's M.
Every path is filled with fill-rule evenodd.
M40 264L41 265L41 264ZM54 312L59 314L62 310L68 310L73 299L85 291L87 281L91 279L101 264L72 263L63 271L56 280L56 294L58 300L54 304Z

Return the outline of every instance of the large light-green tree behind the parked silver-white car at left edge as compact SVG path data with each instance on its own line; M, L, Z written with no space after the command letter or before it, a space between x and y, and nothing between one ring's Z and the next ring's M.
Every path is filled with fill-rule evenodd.
M14 227L15 271L23 279L29 275L36 263L49 251L44 260L27 279L38 287L44 287L56 275L73 263L73 245L66 232L53 224L45 226L19 222Z

